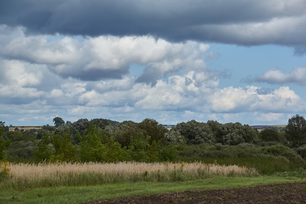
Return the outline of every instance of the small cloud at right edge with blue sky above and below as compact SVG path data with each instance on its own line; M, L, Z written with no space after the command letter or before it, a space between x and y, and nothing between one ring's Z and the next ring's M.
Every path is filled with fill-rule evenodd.
M306 85L306 67L293 68L291 72L284 73L282 70L274 68L268 70L258 77L249 76L242 81L246 83L266 82L268 84L296 83L301 86Z

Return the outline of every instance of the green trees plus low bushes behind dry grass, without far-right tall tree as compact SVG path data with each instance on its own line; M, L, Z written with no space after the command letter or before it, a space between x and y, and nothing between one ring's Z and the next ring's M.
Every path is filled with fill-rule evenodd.
M0 143L0 148L5 149L0 156L15 162L36 163L131 160L214 163L218 160L219 164L255 167L263 174L306 167L303 159L306 148L293 150L285 146L284 132L264 130L258 133L240 123L195 120L179 123L168 133L165 130L150 118L141 123L123 121L114 125L101 118L79 119L56 129L47 125L35 132L3 133L2 130L6 139L0 139L13 142L9 148L1 147L4 142ZM38 140L33 141L35 136Z

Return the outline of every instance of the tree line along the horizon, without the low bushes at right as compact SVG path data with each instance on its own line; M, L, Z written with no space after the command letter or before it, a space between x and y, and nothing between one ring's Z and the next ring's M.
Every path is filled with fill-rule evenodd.
M298 114L288 120L284 130L265 129L262 132L238 122L221 124L212 120L178 123L170 131L151 118L136 123L102 118L65 122L55 117L53 122L54 126L44 125L39 130L8 132L1 121L0 160L175 161L182 157L182 152L187 154L189 147L195 150L195 145L201 144L215 149L242 144L281 145L303 158L306 156L306 120ZM201 151L203 154L207 150Z

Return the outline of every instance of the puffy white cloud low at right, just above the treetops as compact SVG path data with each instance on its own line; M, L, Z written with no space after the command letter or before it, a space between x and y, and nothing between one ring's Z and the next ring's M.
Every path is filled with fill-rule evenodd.
M289 87L261 92L259 87L226 87L209 96L211 110L219 113L304 112L306 102Z

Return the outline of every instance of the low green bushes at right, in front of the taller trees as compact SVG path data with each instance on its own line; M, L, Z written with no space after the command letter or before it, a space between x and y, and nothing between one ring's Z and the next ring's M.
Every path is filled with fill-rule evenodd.
M177 146L180 161L203 161L219 164L239 164L254 167L262 174L275 172L295 171L305 168L306 162L292 149L284 145L260 147L250 143L241 143L236 146L222 144L200 144Z

